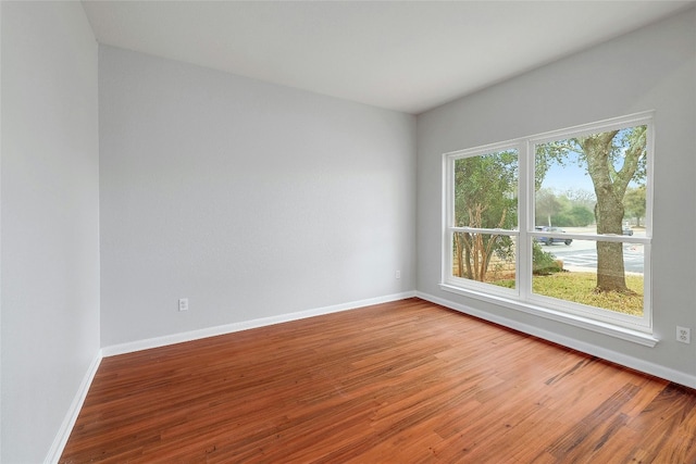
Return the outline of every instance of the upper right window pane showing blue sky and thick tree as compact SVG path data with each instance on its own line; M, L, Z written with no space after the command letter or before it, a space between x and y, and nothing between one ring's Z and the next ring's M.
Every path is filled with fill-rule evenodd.
M535 146L534 225L631 236L646 215L647 126Z

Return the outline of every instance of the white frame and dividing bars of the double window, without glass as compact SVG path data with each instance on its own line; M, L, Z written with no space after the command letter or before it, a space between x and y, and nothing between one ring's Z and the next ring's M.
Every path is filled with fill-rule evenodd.
M651 269L650 247L652 242L652 178L655 159L654 112L644 112L566 129L554 130L530 137L522 137L499 143L475 147L467 150L445 153L443 155L443 246L442 246L442 280L440 288L458 294L475 298L523 311L530 314L563 322L655 347L657 339L652 336L651 305ZM544 297L532 292L532 240L534 237L554 236L548 231L534 230L534 153L535 145L554 140L568 139L587 134L604 133L612 129L647 126L646 149L648 152L646 178L646 215L645 237L611 236L601 234L563 234L563 238L573 240L617 241L639 243L644 246L644 304L643 316L621 314L600 308L594 308ZM514 149L518 151L518 228L514 230L478 229L455 227L455 162L469 156ZM515 240L515 286L513 289L490 284L470 280L452 275L452 241L457 231L495 233L514 237Z

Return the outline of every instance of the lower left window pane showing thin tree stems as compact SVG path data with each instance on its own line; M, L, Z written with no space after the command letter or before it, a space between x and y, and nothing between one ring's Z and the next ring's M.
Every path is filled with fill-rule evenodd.
M452 276L515 287L515 237L455 233Z

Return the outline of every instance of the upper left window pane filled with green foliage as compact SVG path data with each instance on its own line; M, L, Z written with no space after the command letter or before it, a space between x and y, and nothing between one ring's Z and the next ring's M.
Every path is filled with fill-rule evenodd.
M455 160L455 227L518 226L518 150Z

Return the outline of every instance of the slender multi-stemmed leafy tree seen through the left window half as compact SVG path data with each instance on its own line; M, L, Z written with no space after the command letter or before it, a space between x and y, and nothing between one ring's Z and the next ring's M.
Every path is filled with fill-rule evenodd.
M455 225L474 228L517 226L518 154L502 151L455 162ZM509 256L508 236L456 233L459 276L484 281L494 253Z

